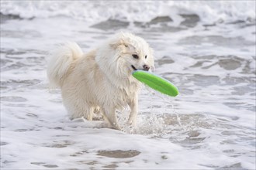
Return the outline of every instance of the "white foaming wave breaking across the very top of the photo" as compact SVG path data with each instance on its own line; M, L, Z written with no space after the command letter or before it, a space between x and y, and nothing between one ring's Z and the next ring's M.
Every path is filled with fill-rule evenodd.
M108 19L124 22L150 22L167 16L174 23L182 15L198 15L200 22L255 22L255 1L1 1L2 15L21 19L67 16L98 23Z

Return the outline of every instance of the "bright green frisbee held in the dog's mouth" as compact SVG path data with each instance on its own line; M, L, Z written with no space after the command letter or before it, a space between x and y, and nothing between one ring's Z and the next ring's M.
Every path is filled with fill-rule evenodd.
M152 89L167 94L168 96L175 97L178 95L178 88L175 87L175 85L154 73L149 73L143 70L136 70L133 72L133 76Z

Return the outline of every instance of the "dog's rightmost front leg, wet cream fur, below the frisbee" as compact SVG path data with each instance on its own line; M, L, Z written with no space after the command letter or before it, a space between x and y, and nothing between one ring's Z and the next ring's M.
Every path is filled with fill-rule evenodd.
M138 94L133 97L128 103L130 106L130 117L128 119L128 124L132 124L134 127L137 124L137 114L138 114Z

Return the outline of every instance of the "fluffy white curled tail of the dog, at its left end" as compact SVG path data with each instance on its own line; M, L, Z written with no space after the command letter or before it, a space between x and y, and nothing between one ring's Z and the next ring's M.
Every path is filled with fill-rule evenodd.
M74 60L82 56L81 48L75 42L67 42L60 46L50 57L47 66L47 76L50 81L50 87L60 87L61 82L71 68Z

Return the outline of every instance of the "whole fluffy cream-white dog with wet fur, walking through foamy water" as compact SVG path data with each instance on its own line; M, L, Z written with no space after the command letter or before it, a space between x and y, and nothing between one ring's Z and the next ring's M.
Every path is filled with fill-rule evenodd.
M153 67L153 50L147 42L121 32L87 54L76 43L67 43L51 58L47 75L50 83L61 87L71 119L92 121L99 109L112 128L120 130L116 110L127 105L128 123L136 125L140 82L133 78L133 71Z

